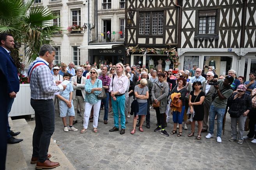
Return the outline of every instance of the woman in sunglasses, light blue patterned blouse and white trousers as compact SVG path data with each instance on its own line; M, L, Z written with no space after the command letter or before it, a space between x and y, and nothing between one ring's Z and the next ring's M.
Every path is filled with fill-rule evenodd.
M101 100L97 99L97 95L101 94L102 90L102 81L98 79L97 69L92 68L90 70L90 78L85 81L85 115L83 119L83 129L81 130L81 134L85 133L88 127L88 121L92 106L94 106L94 133L98 132L98 119L99 119L99 111L101 108Z

